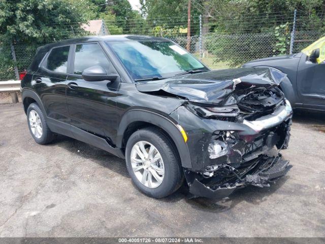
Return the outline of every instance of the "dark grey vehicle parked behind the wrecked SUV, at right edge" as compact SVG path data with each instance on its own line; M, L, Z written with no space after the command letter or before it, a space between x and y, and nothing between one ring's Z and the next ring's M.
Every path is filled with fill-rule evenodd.
M243 67L271 67L287 74L280 89L293 108L325 111L325 63L317 63L319 49L253 60Z

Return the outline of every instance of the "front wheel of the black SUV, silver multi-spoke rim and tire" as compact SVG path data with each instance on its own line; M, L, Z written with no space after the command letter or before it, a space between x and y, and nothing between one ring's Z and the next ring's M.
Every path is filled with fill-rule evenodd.
M150 197L169 196L183 182L177 149L169 137L154 127L141 129L129 137L125 159L134 184Z

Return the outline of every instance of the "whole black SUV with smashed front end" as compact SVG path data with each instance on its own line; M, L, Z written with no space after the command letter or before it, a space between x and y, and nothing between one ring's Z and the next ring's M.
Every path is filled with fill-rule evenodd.
M21 88L37 143L62 134L125 158L152 197L185 179L190 196L223 198L289 169L271 150L289 141L285 79L269 68L211 71L164 38L107 36L40 47Z

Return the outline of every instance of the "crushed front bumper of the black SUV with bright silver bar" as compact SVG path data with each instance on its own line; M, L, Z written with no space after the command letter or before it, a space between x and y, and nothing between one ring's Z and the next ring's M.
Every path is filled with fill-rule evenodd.
M292 113L287 101L272 114L242 122L201 118L183 106L175 110L172 117L188 135L191 161L182 166L193 197L222 199L284 175L290 166L279 151L288 146Z

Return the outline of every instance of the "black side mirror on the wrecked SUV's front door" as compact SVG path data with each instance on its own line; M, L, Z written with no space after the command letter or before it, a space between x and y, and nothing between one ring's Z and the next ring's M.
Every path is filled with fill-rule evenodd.
M105 69L102 66L96 65L91 66L87 69L82 71L82 78L86 81L102 81L102 80L109 80L115 81L118 78L117 74L110 74L108 75Z

